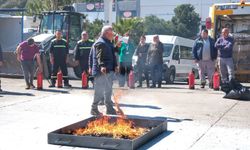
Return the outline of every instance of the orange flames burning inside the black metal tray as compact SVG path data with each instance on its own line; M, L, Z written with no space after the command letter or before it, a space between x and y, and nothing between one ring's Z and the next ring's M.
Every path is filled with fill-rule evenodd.
M85 128L76 129L74 135L107 136L116 139L135 139L148 132L147 128L135 127L128 119L117 118L115 122L110 117L103 116L90 121Z

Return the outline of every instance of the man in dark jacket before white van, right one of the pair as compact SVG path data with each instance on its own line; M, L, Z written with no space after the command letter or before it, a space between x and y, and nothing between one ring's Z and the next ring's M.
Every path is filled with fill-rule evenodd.
M162 65L163 65L163 44L160 42L159 36L155 35L153 37L153 43L150 44L148 48L147 62L150 67L150 73L152 78L152 86L150 88L156 87L156 82L158 82L158 88L161 88L162 82Z

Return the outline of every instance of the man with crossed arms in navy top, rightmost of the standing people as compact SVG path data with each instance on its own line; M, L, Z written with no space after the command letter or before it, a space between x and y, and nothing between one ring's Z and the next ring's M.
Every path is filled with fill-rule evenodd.
M219 52L219 67L222 83L235 78L233 63L234 39L229 36L229 29L222 30L221 37L216 41L215 47Z

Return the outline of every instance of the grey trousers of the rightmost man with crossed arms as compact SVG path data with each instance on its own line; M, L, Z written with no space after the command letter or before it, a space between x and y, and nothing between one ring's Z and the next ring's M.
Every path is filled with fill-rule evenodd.
M233 58L219 58L219 67L223 83L235 78Z

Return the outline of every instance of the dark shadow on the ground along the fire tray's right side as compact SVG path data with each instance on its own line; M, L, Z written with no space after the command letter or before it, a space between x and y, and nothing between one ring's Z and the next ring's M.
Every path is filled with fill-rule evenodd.
M145 145L140 147L138 150L150 149L152 146L159 143L161 140L163 140L165 137L169 136L172 133L173 133L173 131L165 131L162 134L160 134L159 136L156 136L153 140L149 141L148 143L146 143Z

